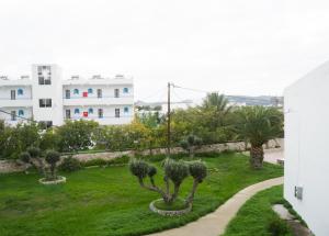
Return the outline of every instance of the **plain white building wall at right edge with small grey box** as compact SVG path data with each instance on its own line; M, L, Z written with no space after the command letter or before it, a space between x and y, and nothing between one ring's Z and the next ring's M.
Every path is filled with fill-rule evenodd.
M329 235L329 63L284 93L284 198L317 236ZM303 187L303 200L294 195Z

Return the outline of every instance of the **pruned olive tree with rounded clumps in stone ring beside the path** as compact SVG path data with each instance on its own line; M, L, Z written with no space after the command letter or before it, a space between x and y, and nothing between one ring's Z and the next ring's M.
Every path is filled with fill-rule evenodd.
M182 160L175 161L167 158L162 162L164 170L164 189L159 188L155 182L155 176L157 175L157 168L140 159L133 159L129 162L131 172L137 177L141 188L158 192L166 204L171 204L179 196L179 191L182 182L191 175L194 179L193 188L185 202L193 203L193 198L198 183L206 177L206 166L202 161L185 162ZM146 179L149 179L150 184L146 183ZM170 183L173 188L170 188Z

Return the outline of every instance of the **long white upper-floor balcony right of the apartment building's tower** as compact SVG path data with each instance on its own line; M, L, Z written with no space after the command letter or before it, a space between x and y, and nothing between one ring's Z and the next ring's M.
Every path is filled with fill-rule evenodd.
M125 95L125 97L72 97L72 98L64 98L63 105L126 105L133 104L134 97Z

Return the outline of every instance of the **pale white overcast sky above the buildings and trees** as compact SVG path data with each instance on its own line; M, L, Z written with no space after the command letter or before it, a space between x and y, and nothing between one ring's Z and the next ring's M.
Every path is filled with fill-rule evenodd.
M329 59L329 1L1 0L0 35L1 75L55 63L66 77L133 76L136 99L167 81L281 95Z

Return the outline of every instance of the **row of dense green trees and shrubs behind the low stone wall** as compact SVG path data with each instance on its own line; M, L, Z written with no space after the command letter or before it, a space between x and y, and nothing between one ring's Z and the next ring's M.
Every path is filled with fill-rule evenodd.
M190 137L189 137L190 136ZM260 144L283 136L283 114L276 108L235 106L223 94L209 93L203 103L171 113L171 146L186 141L215 144L235 141L251 143L253 155L261 155ZM73 153L88 149L145 150L167 146L167 115L158 111L137 114L131 124L99 125L94 121L66 121L58 127L43 130L38 123L15 127L0 122L0 158L15 159L29 147ZM186 148L191 150L191 147Z

